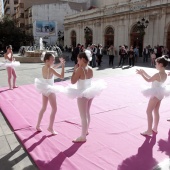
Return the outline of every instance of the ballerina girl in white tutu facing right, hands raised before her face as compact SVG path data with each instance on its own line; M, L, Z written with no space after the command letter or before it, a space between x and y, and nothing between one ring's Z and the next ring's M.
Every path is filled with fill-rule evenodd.
M57 103L56 103L56 92L63 91L64 87L54 85L54 76L57 76L61 79L64 78L64 65L65 60L60 59L60 64L53 67L55 62L55 57L51 53L46 53L43 58L45 65L42 67L42 79L35 79L35 87L36 89L42 93L42 108L39 112L38 121L36 125L37 131L42 131L40 128L41 120L43 118L43 114L47 108L47 103L49 101L52 111L50 115L50 122L48 126L48 131L53 135L56 135L57 132L53 129L54 119L57 112ZM61 73L57 73L54 68L62 66Z

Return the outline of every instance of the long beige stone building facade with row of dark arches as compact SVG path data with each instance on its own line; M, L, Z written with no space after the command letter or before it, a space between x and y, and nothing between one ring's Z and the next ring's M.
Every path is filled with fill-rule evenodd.
M155 46L170 49L170 0L95 0L91 10L66 16L64 44ZM137 22L149 21L143 37Z

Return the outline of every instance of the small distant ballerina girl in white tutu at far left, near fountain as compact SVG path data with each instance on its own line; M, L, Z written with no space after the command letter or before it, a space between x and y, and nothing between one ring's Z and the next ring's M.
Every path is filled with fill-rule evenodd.
M12 52L12 46L9 45L6 47L7 52L4 54L5 57L5 63L1 63L1 66L5 66L8 73L8 85L9 89L12 90L13 88L17 88L16 86L16 72L15 67L20 65L20 62L15 61L15 58L13 57ZM13 85L11 84L11 78L13 76Z

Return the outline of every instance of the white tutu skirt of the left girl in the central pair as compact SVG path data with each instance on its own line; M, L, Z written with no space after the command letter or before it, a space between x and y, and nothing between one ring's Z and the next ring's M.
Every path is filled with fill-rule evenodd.
M51 79L35 78L34 85L39 93L47 97L51 93L64 92L63 86L54 84L54 76Z

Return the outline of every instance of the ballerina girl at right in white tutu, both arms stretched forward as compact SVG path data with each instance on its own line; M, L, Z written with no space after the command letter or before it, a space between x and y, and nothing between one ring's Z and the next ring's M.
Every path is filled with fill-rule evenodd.
M166 86L167 73L165 72L165 67L168 65L168 57L162 56L155 60L156 69L159 71L153 76L149 76L144 70L136 70L137 74L140 74L147 82L152 82L152 86L150 88L146 88L142 91L142 93L146 97L150 97L149 103L147 106L147 120L148 120L148 128L145 132L142 132L143 136L152 136L153 133L157 133L158 131L158 123L159 123L159 108L162 99L165 96L170 95L170 88ZM153 124L153 115L154 111L154 124ZM152 128L153 124L153 128Z

